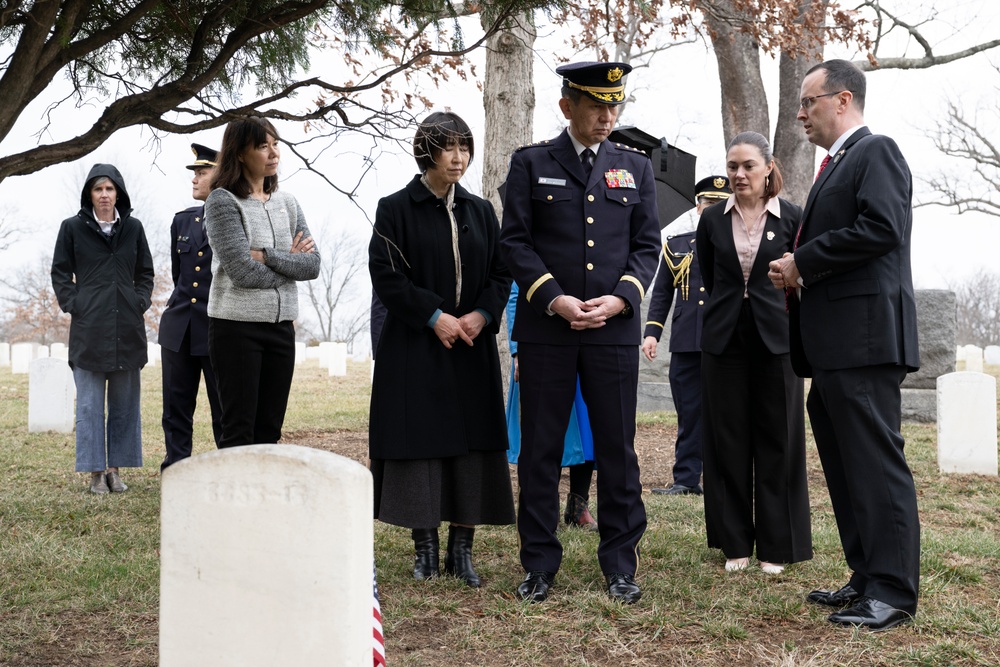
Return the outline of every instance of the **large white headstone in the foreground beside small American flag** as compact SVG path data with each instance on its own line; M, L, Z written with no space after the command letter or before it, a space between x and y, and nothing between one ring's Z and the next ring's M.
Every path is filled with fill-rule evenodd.
M364 466L251 445L180 461L161 488L161 667L371 663Z

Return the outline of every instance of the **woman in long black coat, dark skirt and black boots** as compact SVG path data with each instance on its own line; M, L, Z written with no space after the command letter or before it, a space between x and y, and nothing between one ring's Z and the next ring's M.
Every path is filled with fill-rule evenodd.
M496 345L511 279L493 207L458 183L468 125L433 113L413 145L422 173L379 201L368 249L387 311L369 426L375 518L412 529L417 579L437 576L437 529L451 522L445 571L478 587L475 526L514 523Z

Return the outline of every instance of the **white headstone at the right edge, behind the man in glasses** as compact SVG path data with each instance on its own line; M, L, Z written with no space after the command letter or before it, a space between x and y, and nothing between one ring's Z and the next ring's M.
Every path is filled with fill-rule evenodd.
M973 372L942 375L937 399L941 472L996 475L996 378Z

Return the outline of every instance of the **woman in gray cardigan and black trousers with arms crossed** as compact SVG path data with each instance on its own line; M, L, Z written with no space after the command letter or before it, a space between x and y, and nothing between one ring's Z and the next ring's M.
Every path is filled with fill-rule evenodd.
M229 123L205 202L214 253L208 346L222 402L219 447L281 438L295 366L295 283L319 275L302 209L278 192L279 158L271 123Z

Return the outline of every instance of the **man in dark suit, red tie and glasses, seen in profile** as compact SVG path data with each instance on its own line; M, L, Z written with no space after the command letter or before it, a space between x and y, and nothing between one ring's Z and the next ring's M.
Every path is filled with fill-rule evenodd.
M873 630L912 620L920 523L903 454L899 385L920 365L910 272L912 184L896 143L864 125L865 76L830 60L802 82L798 118L827 152L794 252L771 263L789 289L791 357L807 402L850 581L809 600L831 622Z

